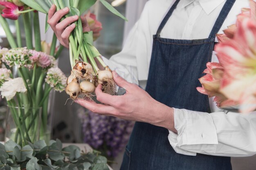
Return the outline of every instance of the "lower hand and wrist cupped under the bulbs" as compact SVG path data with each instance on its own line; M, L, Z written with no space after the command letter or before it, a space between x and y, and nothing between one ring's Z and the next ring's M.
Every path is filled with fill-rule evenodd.
M125 95L112 96L102 92L99 84L95 90L97 100L94 101L76 99L75 102L100 115L115 116L131 121L141 121L161 126L176 132L174 128L174 110L164 104L157 102L146 91L125 79L113 71L114 80L118 86L126 90Z

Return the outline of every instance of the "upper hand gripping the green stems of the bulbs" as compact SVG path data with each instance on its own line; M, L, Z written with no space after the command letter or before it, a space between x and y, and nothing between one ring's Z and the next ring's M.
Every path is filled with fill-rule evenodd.
M74 15L68 18L65 18L63 21L59 22L63 16L69 13L69 8L66 7L56 12L56 6L53 4L48 13L48 24L51 26L52 30L56 34L61 45L69 48L69 37L71 32L75 29L76 22L79 19L79 16ZM83 32L90 31L90 27L85 16L81 16L81 21L83 25Z

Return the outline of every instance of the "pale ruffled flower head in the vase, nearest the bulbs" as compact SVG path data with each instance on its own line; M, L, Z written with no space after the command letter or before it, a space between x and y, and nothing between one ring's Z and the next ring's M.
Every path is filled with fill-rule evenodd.
M45 82L54 90L62 92L65 90L67 77L59 68L50 68L47 72Z

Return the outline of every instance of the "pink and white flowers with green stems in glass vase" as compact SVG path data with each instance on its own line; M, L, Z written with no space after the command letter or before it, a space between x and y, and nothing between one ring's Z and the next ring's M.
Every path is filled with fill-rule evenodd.
M50 91L65 90L66 76L57 67L56 59L44 52L28 50L26 47L16 49L0 49L2 65L0 68L0 92L1 96L7 100L9 107L19 107L20 110L11 110L11 115L15 120L17 129L15 142L21 142L22 146L27 142L36 141L38 128L35 124L35 116L38 110L43 107ZM18 69L15 78L13 67ZM14 98L15 97L15 98ZM22 113L22 108L38 108L34 111ZM25 116L26 115L26 116ZM30 119L30 121L24 121ZM35 126L34 128L31 126ZM46 132L47 113L42 115L41 127ZM30 135L29 135L30 133ZM20 140L18 140L20 137Z

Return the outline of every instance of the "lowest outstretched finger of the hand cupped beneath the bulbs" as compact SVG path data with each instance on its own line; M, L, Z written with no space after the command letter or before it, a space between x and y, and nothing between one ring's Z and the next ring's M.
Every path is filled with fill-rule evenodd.
M87 108L88 110L91 110L93 113L98 113L101 115L112 115L115 113L115 108L112 106L97 104L95 102L89 102L84 99L76 99L75 102Z

